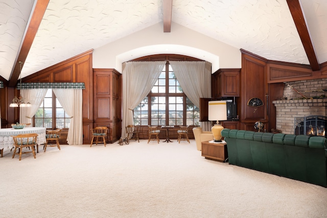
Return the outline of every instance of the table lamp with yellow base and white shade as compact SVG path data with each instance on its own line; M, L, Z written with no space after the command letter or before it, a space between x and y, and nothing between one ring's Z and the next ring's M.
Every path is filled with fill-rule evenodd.
M209 101L208 120L217 121L217 123L211 128L211 131L214 134L215 142L221 142L221 130L223 130L224 127L219 123L219 121L227 120L226 101Z

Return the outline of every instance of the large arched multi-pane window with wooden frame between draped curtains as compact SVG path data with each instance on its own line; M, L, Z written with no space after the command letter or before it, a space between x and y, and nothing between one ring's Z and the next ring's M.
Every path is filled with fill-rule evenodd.
M161 55L163 56L163 55ZM174 61L185 60L185 56L173 56ZM178 58L176 58L178 57ZM165 56L168 60L171 56ZM190 58L190 57L186 57ZM146 60L156 61L158 56ZM191 58L192 61L195 59ZM137 60L144 60L137 59ZM198 61L198 59L196 59ZM191 61L191 60L190 60ZM135 125L197 125L199 108L183 93L169 61L147 97L133 110Z

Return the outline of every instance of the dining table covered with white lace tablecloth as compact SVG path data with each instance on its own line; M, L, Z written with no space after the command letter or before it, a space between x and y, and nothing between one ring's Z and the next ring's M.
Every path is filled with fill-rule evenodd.
M1 157L3 157L4 148L13 148L14 141L11 135L19 135L19 134L28 134L28 133L37 133L38 137L36 140L37 143L37 152L38 146L42 145L46 142L45 133L46 129L44 127L24 127L22 129L14 129L14 128L4 128L0 129L0 152Z

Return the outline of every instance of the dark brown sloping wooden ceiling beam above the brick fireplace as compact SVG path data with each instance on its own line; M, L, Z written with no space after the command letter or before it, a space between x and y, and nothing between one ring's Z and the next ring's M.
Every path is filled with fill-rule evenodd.
M310 37L309 28L306 22L305 14L302 10L299 0L286 0L290 12L292 14L297 32L302 41L303 47L307 53L309 63L313 71L320 69L319 62L316 56L315 48Z

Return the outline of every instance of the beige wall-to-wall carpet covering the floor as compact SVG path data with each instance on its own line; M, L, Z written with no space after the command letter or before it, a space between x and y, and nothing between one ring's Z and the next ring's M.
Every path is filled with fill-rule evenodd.
M327 188L207 160L195 141L0 158L0 217L326 217Z

